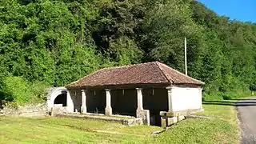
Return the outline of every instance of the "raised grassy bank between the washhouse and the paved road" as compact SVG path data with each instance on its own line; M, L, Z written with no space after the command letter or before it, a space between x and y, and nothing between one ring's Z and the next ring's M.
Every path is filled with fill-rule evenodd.
M227 103L226 103L227 102ZM159 134L154 142L174 143L238 143L239 127L234 103L207 102L199 115L214 119L186 119L170 130Z

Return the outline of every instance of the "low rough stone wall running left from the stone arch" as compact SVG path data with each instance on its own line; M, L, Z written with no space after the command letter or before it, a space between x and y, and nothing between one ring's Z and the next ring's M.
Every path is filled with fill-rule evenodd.
M1 115L14 115L14 116L44 116L48 114L46 103L31 104L18 107L3 107L0 109Z

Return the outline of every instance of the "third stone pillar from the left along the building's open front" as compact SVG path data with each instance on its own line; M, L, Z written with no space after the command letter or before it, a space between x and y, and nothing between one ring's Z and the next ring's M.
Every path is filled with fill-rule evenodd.
M137 110L136 116L137 118L143 118L143 99L142 99L142 88L136 88L137 90Z

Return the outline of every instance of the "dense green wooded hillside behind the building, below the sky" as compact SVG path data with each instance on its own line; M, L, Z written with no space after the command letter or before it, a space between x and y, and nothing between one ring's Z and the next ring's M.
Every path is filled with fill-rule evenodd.
M156 60L184 71L185 37L188 74L206 82L205 98L234 98L256 81L256 25L194 0L2 0L0 83L18 76L63 86Z

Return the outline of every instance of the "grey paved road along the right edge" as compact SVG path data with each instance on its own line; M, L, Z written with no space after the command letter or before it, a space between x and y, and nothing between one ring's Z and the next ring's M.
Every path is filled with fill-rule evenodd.
M241 143L256 144L256 98L242 99L236 105L241 128Z

